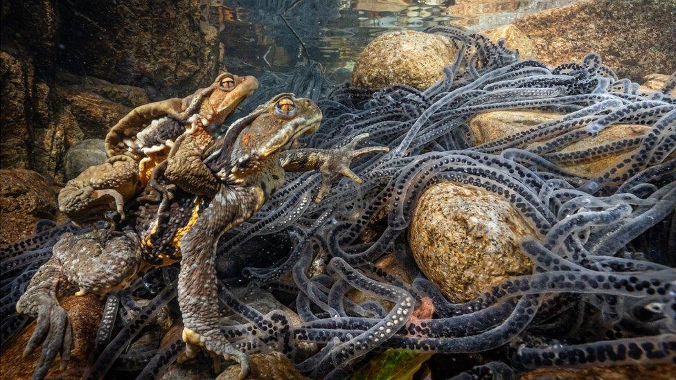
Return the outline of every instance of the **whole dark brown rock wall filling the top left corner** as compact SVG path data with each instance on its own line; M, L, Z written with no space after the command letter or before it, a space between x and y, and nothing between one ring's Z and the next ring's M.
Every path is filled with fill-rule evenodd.
M203 5L3 1L0 167L64 181L70 147L149 101L134 86L169 98L211 82L220 53Z

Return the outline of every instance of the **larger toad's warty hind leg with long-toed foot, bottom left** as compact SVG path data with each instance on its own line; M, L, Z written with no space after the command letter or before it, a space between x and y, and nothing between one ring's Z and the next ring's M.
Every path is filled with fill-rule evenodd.
M112 238L102 230L78 235L65 233L53 252L17 302L19 314L37 318L37 327L24 351L24 356L28 356L42 345L33 379L44 378L58 353L62 368L71 354L70 320L57 300L60 285L76 285L80 294L86 291L105 294L125 286L139 271L141 262L139 239L134 233Z

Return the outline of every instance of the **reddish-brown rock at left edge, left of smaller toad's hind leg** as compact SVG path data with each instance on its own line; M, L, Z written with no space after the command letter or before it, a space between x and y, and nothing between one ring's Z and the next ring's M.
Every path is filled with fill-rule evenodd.
M39 219L55 219L58 189L31 170L0 170L0 244L33 233Z

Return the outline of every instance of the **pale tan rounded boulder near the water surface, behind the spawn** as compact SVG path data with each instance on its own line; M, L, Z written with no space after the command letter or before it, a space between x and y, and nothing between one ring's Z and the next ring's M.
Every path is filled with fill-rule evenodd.
M414 30L385 33L376 37L359 55L352 84L382 89L407 84L427 89L443 78L443 67L456 54L446 37Z

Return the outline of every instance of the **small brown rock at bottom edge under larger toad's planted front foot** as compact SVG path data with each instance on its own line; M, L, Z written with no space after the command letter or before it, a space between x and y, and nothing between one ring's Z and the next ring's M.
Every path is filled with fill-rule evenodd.
M308 379L301 372L296 370L291 359L280 352L271 352L269 354L253 354L249 356L251 370L247 379L251 380L296 380ZM240 365L234 364L228 367L222 374L216 377L216 380L236 380L239 379Z

